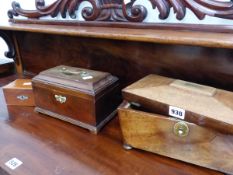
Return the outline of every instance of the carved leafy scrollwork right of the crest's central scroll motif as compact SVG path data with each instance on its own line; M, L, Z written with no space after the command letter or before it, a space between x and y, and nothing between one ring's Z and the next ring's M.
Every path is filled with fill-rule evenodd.
M190 9L200 20L206 15L225 19L233 19L233 2L216 0L150 0L152 7L158 8L159 18L166 19L173 8L176 18L182 20L186 9Z

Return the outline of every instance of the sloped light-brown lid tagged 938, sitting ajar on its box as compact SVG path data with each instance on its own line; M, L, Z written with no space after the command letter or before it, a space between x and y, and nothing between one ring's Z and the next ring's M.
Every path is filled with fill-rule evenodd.
M233 133L233 93L148 75L123 89L124 99L149 112Z

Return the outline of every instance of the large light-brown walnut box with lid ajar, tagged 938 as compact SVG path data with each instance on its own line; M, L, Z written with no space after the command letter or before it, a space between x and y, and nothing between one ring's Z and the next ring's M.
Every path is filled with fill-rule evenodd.
M123 89L125 148L233 174L233 93L149 75Z

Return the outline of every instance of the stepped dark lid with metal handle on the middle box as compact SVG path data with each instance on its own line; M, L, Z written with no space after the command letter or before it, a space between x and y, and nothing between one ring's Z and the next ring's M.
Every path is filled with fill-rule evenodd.
M99 93L117 80L118 78L107 72L64 65L40 72L33 78L33 81L78 90L90 95Z

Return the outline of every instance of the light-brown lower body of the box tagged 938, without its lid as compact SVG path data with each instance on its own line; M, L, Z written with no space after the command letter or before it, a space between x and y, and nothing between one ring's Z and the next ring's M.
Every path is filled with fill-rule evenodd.
M129 104L119 108L125 148L150 151L198 166L233 174L233 135L185 122L186 136L175 133L180 121L134 110Z

